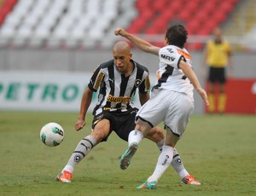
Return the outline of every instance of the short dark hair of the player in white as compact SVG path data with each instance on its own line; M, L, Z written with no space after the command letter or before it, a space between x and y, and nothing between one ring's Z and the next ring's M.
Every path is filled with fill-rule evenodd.
M166 31L166 38L169 44L183 48L187 42L188 32L182 25L171 26Z

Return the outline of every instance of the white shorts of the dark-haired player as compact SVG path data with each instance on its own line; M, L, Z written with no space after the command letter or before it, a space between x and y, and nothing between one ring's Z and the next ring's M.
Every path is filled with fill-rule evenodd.
M181 136L193 108L194 101L188 95L167 89L154 89L151 99L137 112L137 118L152 127L164 122L173 134Z

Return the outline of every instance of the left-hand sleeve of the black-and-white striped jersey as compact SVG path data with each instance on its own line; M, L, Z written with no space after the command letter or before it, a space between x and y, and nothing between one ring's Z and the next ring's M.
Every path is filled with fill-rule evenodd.
M96 92L101 86L104 76L105 73L103 72L102 67L98 66L90 78L90 83L88 84L89 89Z

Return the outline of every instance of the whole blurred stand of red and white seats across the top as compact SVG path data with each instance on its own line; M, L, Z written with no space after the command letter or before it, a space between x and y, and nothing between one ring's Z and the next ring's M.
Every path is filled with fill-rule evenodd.
M209 36L214 27L229 19L236 3L240 2L2 0L0 46L108 48L115 40L113 30L117 26L132 33L154 36L165 33L167 26L177 22L182 22L190 35ZM155 44L161 46L162 40ZM201 43L189 44L190 49L201 47Z

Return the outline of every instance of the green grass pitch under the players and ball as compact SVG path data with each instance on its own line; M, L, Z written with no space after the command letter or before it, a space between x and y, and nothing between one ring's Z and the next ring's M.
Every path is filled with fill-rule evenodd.
M113 133L77 166L73 182L55 182L78 141L90 133L73 129L77 113L0 112L0 195L256 195L256 118L247 115L192 116L177 150L186 169L201 186L179 184L172 169L160 178L157 190L137 190L154 170L159 151L143 140L127 170L119 156L127 144ZM41 127L61 124L65 139L46 147Z

